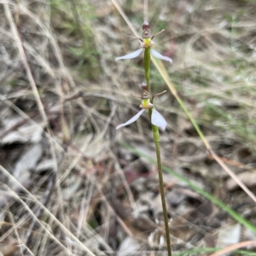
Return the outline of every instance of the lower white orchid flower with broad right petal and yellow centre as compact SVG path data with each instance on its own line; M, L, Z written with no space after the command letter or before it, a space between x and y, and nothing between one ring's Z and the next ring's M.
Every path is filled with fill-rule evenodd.
M143 93L146 94L147 92L144 91ZM116 127L116 130L118 130L121 127L124 127L126 125L130 125L131 123L135 122L143 114L143 112L148 108L152 108L152 115L151 115L152 125L158 126L162 130L166 129L166 119L164 119L163 116L154 108L154 105L150 102L150 99L148 97L143 98L143 102L140 105L140 108L143 108L143 109L140 110L134 117L132 117L130 120L128 120L124 124L118 125Z

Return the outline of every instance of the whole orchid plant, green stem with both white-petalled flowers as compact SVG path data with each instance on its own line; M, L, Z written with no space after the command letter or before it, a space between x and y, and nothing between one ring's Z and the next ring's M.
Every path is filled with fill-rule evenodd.
M161 31L163 32L163 31ZM158 34L160 34L159 32ZM156 34L156 35L158 35ZM122 125L118 125L116 129L125 126L130 125L131 123L135 122L141 114L145 111L145 109L148 109L149 119L151 121L153 136L154 136L154 144L155 144L155 150L156 150L156 158L157 158L157 166L158 166L158 173L159 173L159 181L160 181L160 195L161 195L161 201L162 201L162 207L163 207L163 213L164 213L164 220L165 220L165 229L166 229L166 245L168 250L168 256L172 256L172 250L171 250L171 239L170 239L170 232L169 232L169 224L168 224L168 216L167 216L167 210L166 210L166 198L165 198L165 190L164 190L164 182L163 182L163 174L162 174L162 166L161 166L161 160L160 160L160 134L159 134L159 127L162 130L166 129L166 119L162 117L162 115L155 110L153 100L154 96L159 96L166 92L163 91L159 94L156 94L154 96L151 96L151 86L150 86L150 55L154 55L154 57L159 58L164 61L169 61L172 63L172 59L163 55L160 55L156 50L151 49L151 46L154 44L152 39L156 36L154 35L151 37L150 27L148 24L148 21L144 21L143 24L143 39L137 38L141 43L141 49L137 49L135 52L132 52L128 55L120 56L116 58L116 61L119 60L127 60L127 59L133 59L136 58L138 55L140 55L144 50L144 69L145 69L145 79L146 84L142 84L142 96L137 98L142 100L142 103L140 105L140 108L143 108L141 111L139 111L134 117L132 117L130 120L125 122Z

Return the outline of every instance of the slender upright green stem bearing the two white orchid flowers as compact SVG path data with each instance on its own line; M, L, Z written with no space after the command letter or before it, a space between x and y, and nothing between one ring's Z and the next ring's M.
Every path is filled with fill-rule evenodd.
M144 67L145 67L145 79L148 85L148 92L151 94L150 49L149 48L145 49ZM152 98L150 101L152 102ZM148 114L149 114L149 119L151 120L152 108L148 109ZM170 237L170 231L169 231L169 221L168 221L167 208L166 208L166 197L165 197L164 180L163 180L162 164L161 164L161 157L160 157L160 134L157 126L155 125L151 125L151 126L152 126L152 131L154 136L154 145L155 145L155 151L156 151L156 160L157 160L158 176L159 176L159 183L160 183L160 196L161 196L162 208L164 213L166 245L167 245L168 256L172 256L171 237Z

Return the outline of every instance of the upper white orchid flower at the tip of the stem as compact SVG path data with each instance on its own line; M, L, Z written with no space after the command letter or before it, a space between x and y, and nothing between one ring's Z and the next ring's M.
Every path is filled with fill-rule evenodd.
M169 61L170 63L172 63L172 59L164 56L164 55L160 55L159 52L157 52L154 49L151 49L151 46L154 44L154 42L152 41L152 39L159 35L161 32L164 32L164 30L160 31L159 33L157 33L156 35L154 35L153 37L151 37L151 32L149 29L149 24L147 21L144 22L143 24L143 39L142 38L137 38L139 39L139 41L141 42L141 49L137 49L134 52L131 52L128 55L124 55L124 56L119 56L117 58L115 58L115 61L119 61L119 60L130 60L130 59L134 59L136 58L138 55L140 55L143 52L143 49L150 49L150 53L155 57L158 58L160 60L164 60L164 61ZM151 37L151 38L150 38Z

